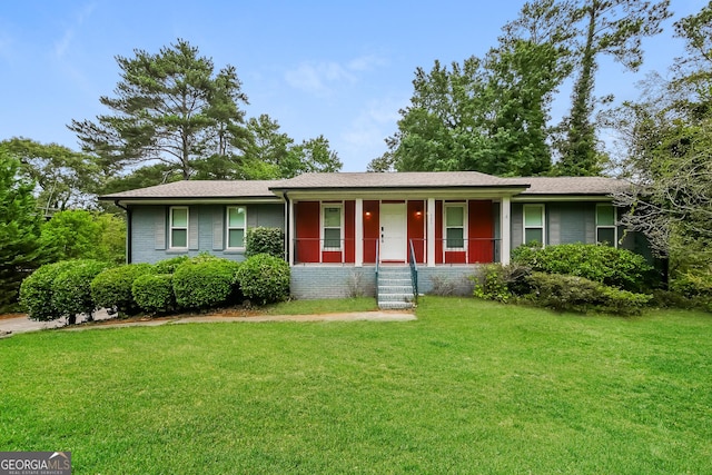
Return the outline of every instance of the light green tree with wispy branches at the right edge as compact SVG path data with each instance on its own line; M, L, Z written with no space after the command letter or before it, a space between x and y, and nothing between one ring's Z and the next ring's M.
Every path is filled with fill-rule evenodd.
M672 79L653 78L612 120L626 146L619 168L635 185L616 196L631 210L621 221L683 271L712 263L711 19L706 4L675 23L688 55L675 59Z

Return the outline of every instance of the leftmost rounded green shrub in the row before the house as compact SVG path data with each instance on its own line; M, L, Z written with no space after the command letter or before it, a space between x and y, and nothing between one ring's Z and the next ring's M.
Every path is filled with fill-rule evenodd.
M61 317L52 305L55 278L72 266L71 260L47 264L27 277L20 286L20 305L33 320L49 321Z

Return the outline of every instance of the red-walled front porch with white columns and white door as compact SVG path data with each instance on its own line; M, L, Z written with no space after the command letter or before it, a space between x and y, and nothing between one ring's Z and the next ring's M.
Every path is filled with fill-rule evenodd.
M300 200L288 204L288 259L299 265L508 263L510 198Z

